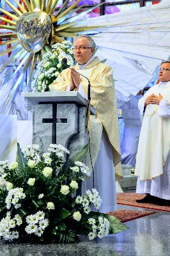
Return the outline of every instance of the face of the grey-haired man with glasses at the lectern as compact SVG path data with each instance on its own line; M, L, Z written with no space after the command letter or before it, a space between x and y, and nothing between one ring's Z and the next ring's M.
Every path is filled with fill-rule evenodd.
M86 64L91 59L93 52L95 51L95 49L89 44L86 37L77 38L74 41L73 48L74 58L80 65Z

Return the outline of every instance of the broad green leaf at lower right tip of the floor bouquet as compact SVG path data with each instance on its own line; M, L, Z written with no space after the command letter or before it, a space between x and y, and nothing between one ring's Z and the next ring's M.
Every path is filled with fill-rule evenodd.
M117 234L120 233L123 230L127 230L128 227L121 223L121 221L119 221L118 219L116 219L114 216L111 215L107 215L107 220L109 220L110 222L110 228L109 228L109 234Z

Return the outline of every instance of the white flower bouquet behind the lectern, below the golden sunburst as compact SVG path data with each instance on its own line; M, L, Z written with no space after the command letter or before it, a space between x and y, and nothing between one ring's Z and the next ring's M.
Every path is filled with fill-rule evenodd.
M49 85L54 82L59 73L75 64L71 42L64 41L62 44L57 43L51 47L52 52L45 53L42 61L37 65L37 72L31 83L33 92L49 92ZM67 59L66 64L62 63L63 58Z

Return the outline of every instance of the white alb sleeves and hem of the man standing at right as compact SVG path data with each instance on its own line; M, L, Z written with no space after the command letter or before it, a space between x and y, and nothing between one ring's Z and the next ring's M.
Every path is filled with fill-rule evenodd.
M166 88L169 86L170 83L160 83L159 88L163 88L166 86ZM153 86L157 88L158 85ZM170 91L169 91L170 92ZM152 92L151 92L152 93ZM161 92L160 92L161 93ZM170 94L169 94L170 98ZM144 109L144 98L139 100L139 109L141 116L143 116L143 109ZM158 116L160 118L166 118L166 122L170 123L170 105L169 100L162 99L159 104L158 109ZM153 127L154 129L154 127ZM170 133L167 133L167 136L169 136ZM155 143L156 144L156 143ZM150 156L148 156L150 157ZM155 159L156 161L157 159ZM158 175L157 177L153 177L151 180L140 180L140 178L137 179L137 188L136 193L148 193L152 196L157 196L158 198L163 198L166 200L170 200L170 152L166 159L166 164L163 168L162 175Z

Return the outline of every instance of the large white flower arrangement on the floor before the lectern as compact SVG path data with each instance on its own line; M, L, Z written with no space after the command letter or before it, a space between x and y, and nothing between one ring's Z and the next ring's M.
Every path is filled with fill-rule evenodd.
M80 195L89 177L82 163L88 146L68 161L70 152L51 144L43 156L38 145L20 149L16 162L0 161L0 237L20 243L75 243L77 235L89 239L106 237L128 227L114 216L91 211L100 209L102 198L96 189Z

